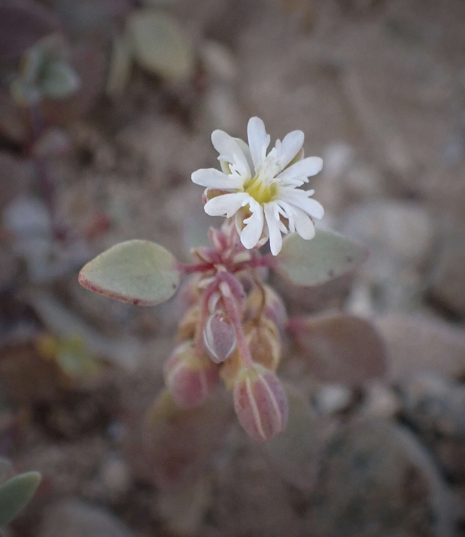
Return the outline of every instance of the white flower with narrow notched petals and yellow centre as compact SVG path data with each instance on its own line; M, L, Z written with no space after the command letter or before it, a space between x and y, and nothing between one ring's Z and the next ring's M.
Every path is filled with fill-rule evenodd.
M308 177L323 165L320 157L303 158L304 133L293 130L283 141L276 141L267 155L270 136L260 118L250 118L248 145L238 138L215 130L211 135L222 171L197 170L192 180L208 190L226 191L209 199L205 213L211 216L235 215L235 224L245 248L270 239L271 253L281 250L281 233L297 233L305 239L315 235L312 218L324 214L321 204L311 199L313 190L301 190ZM287 227L286 227L287 223Z

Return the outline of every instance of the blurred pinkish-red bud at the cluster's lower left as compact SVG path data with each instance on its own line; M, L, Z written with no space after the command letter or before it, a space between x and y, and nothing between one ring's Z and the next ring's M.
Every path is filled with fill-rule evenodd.
M218 366L206 355L197 356L191 341L176 347L163 373L166 386L181 408L200 405L219 382Z

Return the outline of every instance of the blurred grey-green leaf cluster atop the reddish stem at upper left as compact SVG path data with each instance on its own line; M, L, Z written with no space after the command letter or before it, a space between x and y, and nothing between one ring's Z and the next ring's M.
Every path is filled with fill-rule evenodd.
M64 40L53 34L26 51L10 89L19 105L31 106L42 98L65 99L78 88L79 78L68 63Z

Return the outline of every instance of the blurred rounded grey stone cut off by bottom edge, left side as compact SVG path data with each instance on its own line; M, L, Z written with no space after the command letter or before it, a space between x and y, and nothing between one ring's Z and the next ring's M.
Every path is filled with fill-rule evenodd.
M109 511L79 500L51 504L42 520L40 537L131 537L132 532Z

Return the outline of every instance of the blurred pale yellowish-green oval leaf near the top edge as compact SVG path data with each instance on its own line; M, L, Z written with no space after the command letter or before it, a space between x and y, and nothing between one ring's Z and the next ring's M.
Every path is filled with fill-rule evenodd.
M160 76L178 81L194 69L194 53L181 26L169 15L151 9L134 11L128 35L136 61Z

